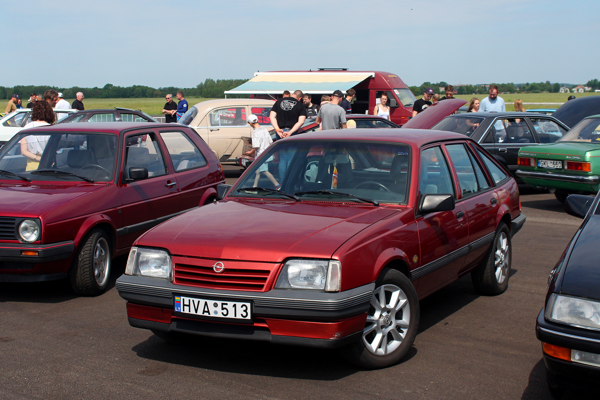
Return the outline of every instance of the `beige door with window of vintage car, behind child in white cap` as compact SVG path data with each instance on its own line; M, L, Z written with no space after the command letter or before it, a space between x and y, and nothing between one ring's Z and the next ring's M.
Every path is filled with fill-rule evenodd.
M208 147L217 153L219 161L227 161L242 155L242 136L251 136L246 122L246 106L219 107L206 116Z

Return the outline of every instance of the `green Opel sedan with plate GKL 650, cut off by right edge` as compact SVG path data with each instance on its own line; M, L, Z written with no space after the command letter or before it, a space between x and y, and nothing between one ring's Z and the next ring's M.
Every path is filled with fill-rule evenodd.
M554 190L562 203L572 193L598 193L600 115L584 118L557 142L522 147L518 167L517 176L526 184Z

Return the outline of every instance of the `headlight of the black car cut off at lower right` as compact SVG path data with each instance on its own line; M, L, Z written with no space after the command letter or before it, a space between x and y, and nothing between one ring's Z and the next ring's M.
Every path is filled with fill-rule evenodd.
M600 330L600 302L553 293L544 317L562 324Z

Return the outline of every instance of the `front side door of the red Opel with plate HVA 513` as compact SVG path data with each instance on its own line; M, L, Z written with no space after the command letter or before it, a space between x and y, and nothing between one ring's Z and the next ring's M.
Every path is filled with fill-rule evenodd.
M449 161L442 146L424 149L419 160L419 196L452 194L455 185ZM456 279L462 269L469 246L469 215L463 202L456 200L455 209L418 215L421 263L413 271L419 280L419 292L431 293L446 282Z

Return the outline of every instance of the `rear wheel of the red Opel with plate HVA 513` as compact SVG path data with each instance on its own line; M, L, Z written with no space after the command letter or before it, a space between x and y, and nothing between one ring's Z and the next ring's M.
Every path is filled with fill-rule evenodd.
M506 224L500 222L484 261L471 273L475 289L487 296L504 293L511 276L511 258L511 233Z

